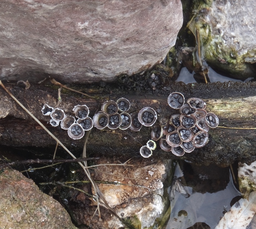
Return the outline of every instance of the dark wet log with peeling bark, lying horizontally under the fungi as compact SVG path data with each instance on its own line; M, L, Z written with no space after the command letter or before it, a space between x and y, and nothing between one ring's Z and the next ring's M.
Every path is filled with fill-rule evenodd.
M52 127L49 117L42 115L44 104L56 107L58 104L58 87L52 85L33 84L29 89L16 83L5 83L12 94L31 111L43 124L65 144L68 148L81 151L84 137L79 140L69 138L67 131L59 127ZM198 97L203 99L207 112L213 112L219 117L219 127L209 130L209 142L192 153L185 153L179 157L197 164L215 163L226 166L234 161L251 162L256 160L256 130L255 129L226 129L225 127L256 127L256 83L212 83L189 84L173 83L154 91L136 91L124 87L111 85L79 86L76 89L93 96L95 100L88 99L80 94L62 89L61 102L58 105L66 114L72 115L75 105L86 104L90 109L90 117L101 109L106 100L116 101L126 98L131 102L129 113L138 113L143 107L152 107L157 111L158 120L165 116L178 113L167 104L167 97L171 92L177 91L186 99ZM138 132L127 130L99 130L93 128L89 134L87 153L90 156L120 156L128 158L140 156L139 149L151 138L150 127L143 126ZM0 144L11 146L42 146L53 148L56 145L40 125L17 105L10 96L0 88ZM157 149L153 151L154 157L178 158L171 152Z

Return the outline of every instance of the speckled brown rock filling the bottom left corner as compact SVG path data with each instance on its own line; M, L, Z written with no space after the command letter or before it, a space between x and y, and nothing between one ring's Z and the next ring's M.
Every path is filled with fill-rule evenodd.
M12 169L0 171L0 228L77 229L59 202Z

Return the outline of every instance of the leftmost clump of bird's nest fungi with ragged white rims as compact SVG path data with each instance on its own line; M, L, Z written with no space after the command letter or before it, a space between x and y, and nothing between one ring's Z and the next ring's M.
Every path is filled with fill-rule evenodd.
M50 124L68 130L68 135L72 139L80 139L84 136L84 131L93 127L93 121L88 116L89 108L86 105L77 105L73 108L74 116L65 114L62 109L52 108L45 104L42 108L43 115L50 115Z

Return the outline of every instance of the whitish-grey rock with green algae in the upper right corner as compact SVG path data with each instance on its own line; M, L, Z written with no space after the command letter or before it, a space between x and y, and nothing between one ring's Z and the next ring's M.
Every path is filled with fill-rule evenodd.
M190 24L198 29L206 62L234 78L255 76L255 0L208 0Z

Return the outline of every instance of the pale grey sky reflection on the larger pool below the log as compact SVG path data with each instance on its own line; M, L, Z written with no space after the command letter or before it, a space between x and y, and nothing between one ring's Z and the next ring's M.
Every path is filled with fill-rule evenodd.
M172 186L169 188L169 197L171 199L171 216L166 226L166 229L186 229L193 226L194 229L214 228L221 217L229 211L234 201L234 198L240 196L240 192L235 188L232 177L223 190L217 192L202 192L196 191L197 188L184 185L184 176L178 166L175 170L175 179ZM209 179L206 176L201 176L201 183ZM215 180L214 182L222 182ZM186 182L186 181L185 181ZM209 181L208 181L209 183ZM216 184L214 184L216 185ZM204 186L204 185L200 185ZM222 186L222 185L220 185ZM180 188L179 188L180 187ZM181 191L180 191L181 190ZM184 190L188 195L184 195Z

